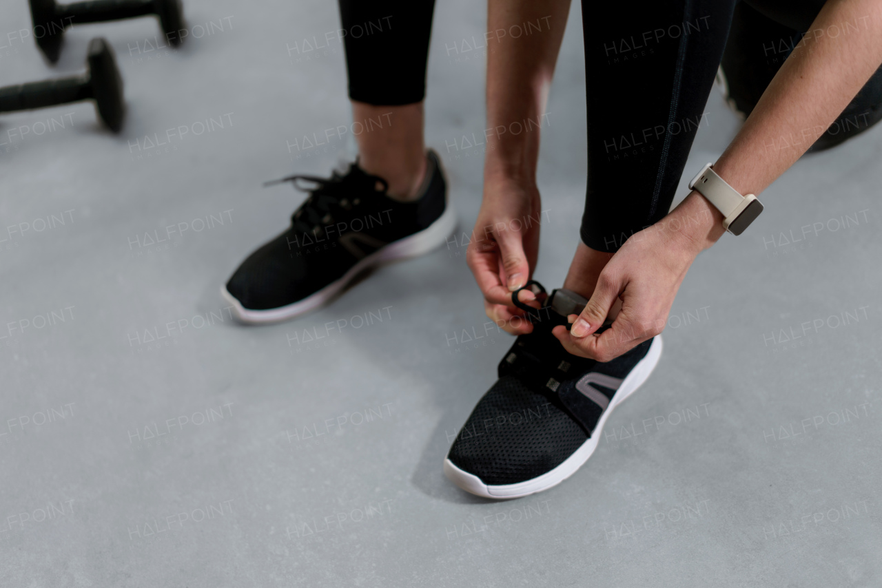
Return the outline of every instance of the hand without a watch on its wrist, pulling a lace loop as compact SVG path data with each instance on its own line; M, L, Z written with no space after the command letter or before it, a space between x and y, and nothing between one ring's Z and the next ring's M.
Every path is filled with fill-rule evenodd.
M534 185L485 179L466 260L484 295L487 316L514 335L533 331L524 311L512 304L512 292L523 287L535 269L541 221L542 202ZM521 291L518 300L539 307L528 290Z

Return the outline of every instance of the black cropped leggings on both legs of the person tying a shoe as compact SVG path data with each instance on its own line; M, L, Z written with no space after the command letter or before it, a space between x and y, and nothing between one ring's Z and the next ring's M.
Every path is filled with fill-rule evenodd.
M749 4L805 31L824 2ZM668 213L695 134L708 125L704 108L736 3L582 0L588 177L580 236L591 249L616 251ZM423 99L433 8L434 0L340 0L350 98Z

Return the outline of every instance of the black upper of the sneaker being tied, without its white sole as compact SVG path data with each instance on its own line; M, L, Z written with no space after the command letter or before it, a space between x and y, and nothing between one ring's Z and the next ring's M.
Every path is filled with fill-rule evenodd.
M545 303L553 306L557 290ZM541 319L541 320L540 320ZM551 333L566 317L540 314L533 332L520 335L499 363L499 379L468 417L448 458L491 486L517 484L548 473L594 431L603 409L577 391L591 372L625 378L646 356L652 339L607 363L568 354ZM553 383L553 385L550 385ZM612 398L615 391L594 385Z

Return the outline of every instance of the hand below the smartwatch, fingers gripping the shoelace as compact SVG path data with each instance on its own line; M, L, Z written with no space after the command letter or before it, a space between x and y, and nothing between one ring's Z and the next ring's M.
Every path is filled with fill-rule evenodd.
M555 327L552 332L567 352L610 361L662 332L676 292L701 250L698 240L670 230L668 220L624 242L600 273L585 309L578 317L570 315L572 330ZM594 335L617 300L622 309L613 324Z

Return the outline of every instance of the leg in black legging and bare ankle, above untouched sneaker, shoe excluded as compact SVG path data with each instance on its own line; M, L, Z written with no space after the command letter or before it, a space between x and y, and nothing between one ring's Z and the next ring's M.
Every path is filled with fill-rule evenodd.
M417 196L426 169L422 100L434 4L340 0L353 119L379 122L356 138L359 166L402 200Z

